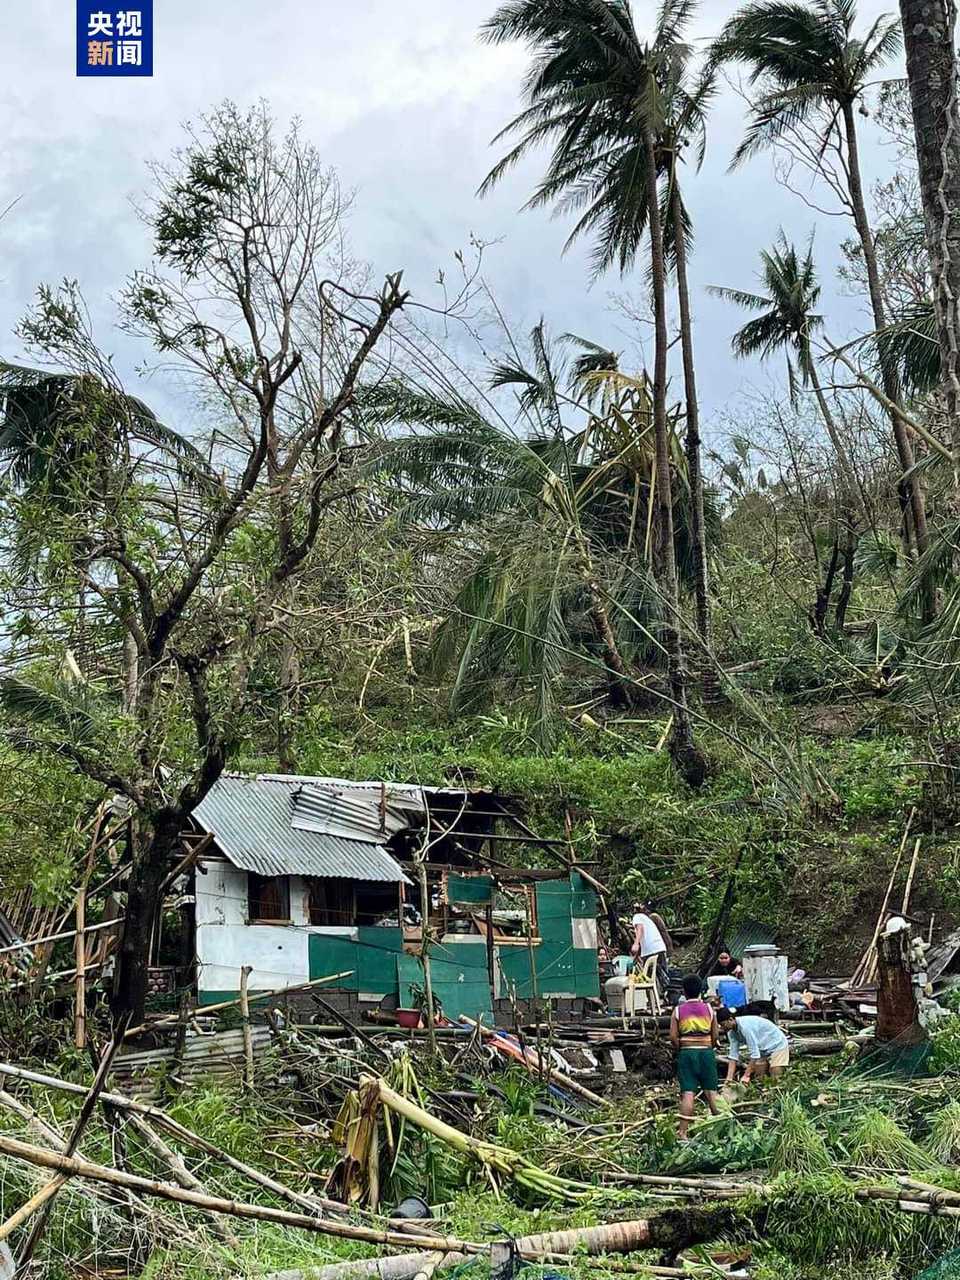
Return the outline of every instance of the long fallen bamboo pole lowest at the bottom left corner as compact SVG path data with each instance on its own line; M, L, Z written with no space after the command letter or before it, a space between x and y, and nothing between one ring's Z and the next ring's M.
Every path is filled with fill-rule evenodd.
M242 1217L257 1222L276 1222L280 1226L294 1226L319 1235L334 1235L346 1240L388 1244L396 1248L416 1245L430 1252L443 1249L445 1253L453 1251L476 1253L483 1248L483 1245L467 1244L463 1240L434 1235L402 1235L397 1231L380 1231L375 1228L355 1226L351 1222L334 1222L329 1219L314 1217L307 1213L292 1213L288 1210L273 1208L266 1204L251 1204L246 1201L230 1201L219 1196L207 1196L201 1192L187 1190L186 1187L155 1181L150 1178L141 1178L138 1174L128 1174L120 1169L95 1165L88 1160L81 1160L78 1156L61 1156L55 1151L45 1151L42 1147L33 1147L29 1143L19 1142L17 1138L9 1138L6 1134L0 1134L0 1155L10 1156L14 1160L23 1160L40 1169L51 1169L64 1180L83 1178L113 1187L125 1187L132 1192L138 1192L141 1196L154 1196L160 1199L175 1201L179 1204L192 1204L195 1208L205 1210L210 1213L225 1213L230 1217Z

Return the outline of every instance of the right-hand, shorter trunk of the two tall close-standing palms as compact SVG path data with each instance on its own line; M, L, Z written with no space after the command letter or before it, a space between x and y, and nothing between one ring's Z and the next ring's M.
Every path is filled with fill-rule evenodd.
M696 596L696 630L703 640L710 672L712 659L710 577L707 558L707 521L704 517L703 466L700 460L700 402L696 396L694 364L694 326L690 315L690 287L686 275L686 234L677 186L676 159L671 173L671 215L677 262L677 303L680 307L680 347L684 357L684 399L686 401L686 468L690 483L690 534L694 544L694 593Z

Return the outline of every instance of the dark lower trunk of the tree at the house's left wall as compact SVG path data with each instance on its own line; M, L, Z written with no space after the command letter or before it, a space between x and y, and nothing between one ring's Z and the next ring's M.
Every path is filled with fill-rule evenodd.
M114 1025L129 1014L143 1021L150 974L150 947L160 915L161 886L177 847L182 814L166 810L151 826L133 819L131 873L127 881L127 910L116 952L110 1009Z

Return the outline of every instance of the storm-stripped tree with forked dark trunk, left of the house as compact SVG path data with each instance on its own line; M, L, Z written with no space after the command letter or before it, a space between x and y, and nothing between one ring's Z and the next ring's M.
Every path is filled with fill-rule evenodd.
M23 745L65 756L129 803L116 1018L143 1011L170 856L242 740L251 671L275 611L326 512L355 486L344 424L406 301L399 275L364 294L323 276L339 230L335 177L296 129L278 138L262 108L228 104L204 119L156 178L146 216L157 261L131 282L124 324L196 380L218 415L210 467L193 466L184 484L133 452L104 476L88 513L84 572L137 650L127 716L109 718L97 690L4 685L8 710L28 724ZM323 378L301 346L307 315L316 335L317 308L337 335ZM51 360L88 361L91 337L69 294L41 301L26 333ZM120 394L104 369L82 379L81 422Z

